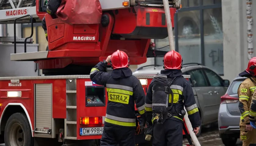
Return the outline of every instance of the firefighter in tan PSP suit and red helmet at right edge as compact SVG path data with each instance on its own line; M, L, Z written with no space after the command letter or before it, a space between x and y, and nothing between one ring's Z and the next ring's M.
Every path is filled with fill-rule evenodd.
M243 146L256 144L256 129L250 125L249 109L252 102L252 95L256 85L256 57L250 59L248 67L245 71L239 74L240 77L247 77L238 87L237 94L239 96L240 109L240 140L243 141ZM253 105L254 106L254 105ZM252 106L252 107L253 107ZM255 111L255 109L254 109ZM252 118L251 118L252 120Z

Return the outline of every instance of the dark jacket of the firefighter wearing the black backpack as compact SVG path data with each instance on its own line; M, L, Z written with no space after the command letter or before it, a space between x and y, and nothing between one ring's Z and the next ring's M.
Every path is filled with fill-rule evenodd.
M162 70L161 74L167 75L168 78L174 78L182 75L181 70ZM145 113L146 113L146 119L148 123L153 123L152 120L152 86L154 79L151 81L146 99L145 99ZM176 80L172 83L170 86L172 92L173 92L173 108L176 107L176 111L180 112L183 107L185 106L188 118L192 124L192 127L199 127L201 126L201 119L199 115L199 111L197 108L197 104L194 98L194 93L192 90L192 87L190 83L187 81L187 79L183 78L182 76L180 78L176 78ZM171 105L171 94L169 94L169 106ZM180 100L183 99L183 100ZM178 100L180 100L178 102ZM177 103L178 102L178 103ZM176 120L179 122L183 122L183 119L178 116L172 116L172 120ZM152 120L152 122L150 122Z

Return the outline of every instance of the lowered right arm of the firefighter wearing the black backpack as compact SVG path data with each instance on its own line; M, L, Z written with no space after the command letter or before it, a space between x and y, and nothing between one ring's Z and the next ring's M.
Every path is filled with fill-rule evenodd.
M188 118L191 122L193 128L201 126L201 118L198 111L197 103L194 97L193 89L190 83L184 79L183 86L183 97L184 97L184 106L187 110Z

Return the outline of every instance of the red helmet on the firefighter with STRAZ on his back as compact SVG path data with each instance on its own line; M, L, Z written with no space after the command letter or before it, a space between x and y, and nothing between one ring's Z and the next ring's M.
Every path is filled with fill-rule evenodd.
M113 69L117 68L128 68L129 58L124 51L117 50L111 55L110 64Z

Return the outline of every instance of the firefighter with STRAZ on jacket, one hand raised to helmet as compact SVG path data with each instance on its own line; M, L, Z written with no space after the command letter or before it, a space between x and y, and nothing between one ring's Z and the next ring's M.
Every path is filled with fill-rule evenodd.
M112 65L112 73L106 72L108 63ZM117 50L91 69L91 80L98 85L104 85L108 94L101 146L135 145L134 101L140 113L140 126L144 125L145 93L139 79L132 75L128 67L127 54Z

